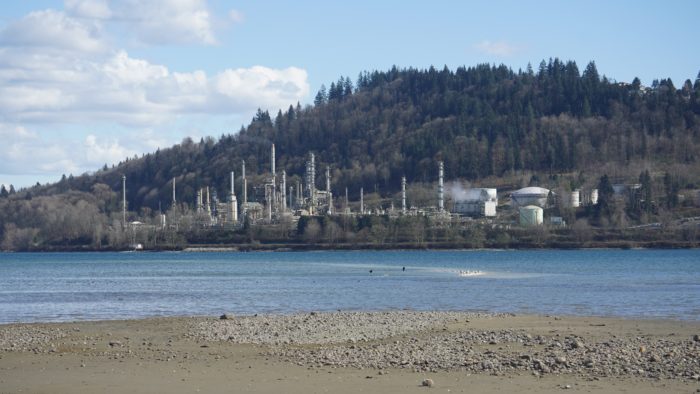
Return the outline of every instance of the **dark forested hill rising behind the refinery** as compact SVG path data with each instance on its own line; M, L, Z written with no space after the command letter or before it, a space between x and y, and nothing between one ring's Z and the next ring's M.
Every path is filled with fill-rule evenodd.
M124 174L131 210L157 209L159 203L167 208L173 178L178 200L193 202L202 186L225 193L229 172L240 175L243 159L249 177L268 172L272 142L278 171L300 176L314 152L318 168L331 166L335 190L393 192L404 175L409 182L432 181L437 159L444 160L447 179L474 181L523 170L623 173L642 163L665 171L693 169L685 180L697 182L699 78L679 86L661 79L644 87L638 79L609 80L594 63L581 72L576 63L558 59L517 72L503 65L363 72L355 83L340 78L323 87L313 106L272 115L258 111L247 127L218 141L185 139L30 192L93 192L96 184L120 190ZM322 173L317 170L319 178Z

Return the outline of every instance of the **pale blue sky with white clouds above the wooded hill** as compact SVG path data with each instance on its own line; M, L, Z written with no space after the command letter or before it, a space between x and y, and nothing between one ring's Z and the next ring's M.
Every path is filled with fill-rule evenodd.
M700 72L700 2L52 0L0 4L0 184L55 182L236 133L362 71L514 70L620 82Z

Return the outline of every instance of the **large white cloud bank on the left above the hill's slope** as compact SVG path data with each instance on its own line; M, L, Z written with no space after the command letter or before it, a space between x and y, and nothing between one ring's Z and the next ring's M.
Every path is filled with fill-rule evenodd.
M201 128L215 117L287 108L309 93L300 68L181 72L132 57L109 37L110 25L121 24L147 43L214 43L205 1L66 0L65 9L0 27L3 182L95 170L179 141L188 131L164 125L180 119Z

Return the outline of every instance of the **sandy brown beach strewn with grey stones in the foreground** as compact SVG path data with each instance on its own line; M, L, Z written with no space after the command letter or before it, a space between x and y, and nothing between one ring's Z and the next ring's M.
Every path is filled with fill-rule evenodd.
M694 321L407 311L9 324L0 393L695 393L698 335Z

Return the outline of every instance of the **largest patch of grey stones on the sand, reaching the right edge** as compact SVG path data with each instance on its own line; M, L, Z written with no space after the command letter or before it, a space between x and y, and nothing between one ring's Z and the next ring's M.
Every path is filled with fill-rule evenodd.
M254 343L308 367L392 368L700 380L700 338L653 335L605 339L526 330L461 329L512 315L457 312L310 313L197 323L200 340ZM312 345L312 346L309 346ZM315 345L315 346L313 346Z

